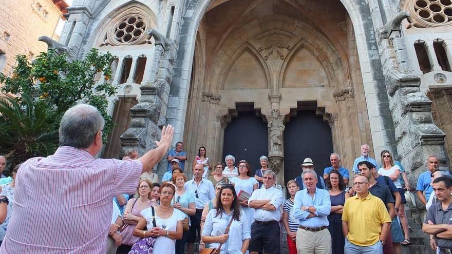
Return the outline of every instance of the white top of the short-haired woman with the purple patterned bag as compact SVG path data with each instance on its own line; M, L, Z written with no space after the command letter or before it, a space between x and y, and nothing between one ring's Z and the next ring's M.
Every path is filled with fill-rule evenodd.
M152 224L152 209L146 208L141 211L141 215L147 221L147 229L150 230L153 228ZM182 221L185 218L185 214L178 209L173 209L173 214L170 218L164 220L157 216L156 214L156 224L157 227L163 228L165 225L165 230L168 231L176 231L177 222ZM167 237L157 237L157 240L154 243L154 253L175 253L176 252L176 240L167 238Z

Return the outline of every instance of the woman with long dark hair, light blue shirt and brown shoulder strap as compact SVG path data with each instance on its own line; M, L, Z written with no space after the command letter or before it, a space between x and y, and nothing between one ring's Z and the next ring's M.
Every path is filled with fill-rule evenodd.
M229 231L225 232L229 223ZM239 207L234 186L221 187L217 208L209 211L201 233L204 243L218 248L220 254L245 253L250 244L251 231L243 211Z

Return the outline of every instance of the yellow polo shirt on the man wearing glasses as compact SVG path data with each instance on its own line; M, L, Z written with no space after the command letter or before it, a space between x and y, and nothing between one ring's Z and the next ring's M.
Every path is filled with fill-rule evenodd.
M359 246L370 246L378 242L382 224L391 223L383 201L370 192L364 199L358 196L347 199L342 220L348 222L348 241Z

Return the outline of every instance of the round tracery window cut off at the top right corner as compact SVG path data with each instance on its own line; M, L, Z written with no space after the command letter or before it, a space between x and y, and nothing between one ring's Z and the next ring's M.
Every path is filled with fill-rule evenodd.
M452 24L452 0L411 0L405 7L413 14L408 20L415 27Z

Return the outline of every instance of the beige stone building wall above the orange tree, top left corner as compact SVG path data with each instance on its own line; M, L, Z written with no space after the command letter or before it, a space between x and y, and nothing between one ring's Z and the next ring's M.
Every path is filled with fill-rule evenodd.
M58 40L54 31L62 12L51 0L3 1L0 13L0 71L5 74L15 65L17 54L31 59L47 51L47 45L37 41L40 36Z

